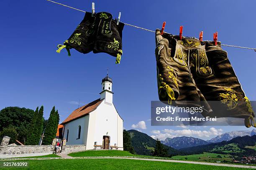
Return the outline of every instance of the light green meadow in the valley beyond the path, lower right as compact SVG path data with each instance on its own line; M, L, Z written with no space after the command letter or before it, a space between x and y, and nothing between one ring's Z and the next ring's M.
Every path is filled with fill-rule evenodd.
M217 156L220 155L222 158L218 158ZM192 161L200 161L200 162L217 162L217 161L231 161L231 155L222 155L217 153L203 153L203 154L195 154L195 155L187 155L187 156L173 156L174 159L180 160L192 160Z

